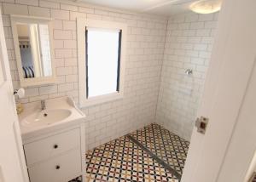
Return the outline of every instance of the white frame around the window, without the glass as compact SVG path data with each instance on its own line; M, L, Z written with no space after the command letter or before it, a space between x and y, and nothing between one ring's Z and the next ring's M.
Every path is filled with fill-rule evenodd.
M120 30L121 33L121 44L120 44L120 59L119 59L119 91L112 94L103 94L96 97L87 98L87 53L86 53L86 42L85 31L86 27ZM79 62L79 106L86 107L90 105L98 105L104 102L120 100L124 97L124 80L125 80L125 51L126 51L126 34L127 25L123 23L106 21L106 20L91 20L78 18L77 19L77 40L78 40L78 62Z

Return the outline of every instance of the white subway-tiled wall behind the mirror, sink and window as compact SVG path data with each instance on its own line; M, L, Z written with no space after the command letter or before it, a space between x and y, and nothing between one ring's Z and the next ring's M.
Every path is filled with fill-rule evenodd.
M128 25L123 100L82 109L86 117L86 147L92 149L155 121L164 54L167 19L135 14L84 3L56 3L46 0L0 0L3 26L15 88L20 87L9 14L54 18L54 50L57 82L26 88L23 103L72 96L78 103L76 18L124 22Z

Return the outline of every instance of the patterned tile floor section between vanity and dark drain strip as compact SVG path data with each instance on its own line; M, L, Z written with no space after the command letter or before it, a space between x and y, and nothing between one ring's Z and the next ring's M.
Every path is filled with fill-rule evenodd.
M127 137L86 153L86 181L170 181L178 179Z

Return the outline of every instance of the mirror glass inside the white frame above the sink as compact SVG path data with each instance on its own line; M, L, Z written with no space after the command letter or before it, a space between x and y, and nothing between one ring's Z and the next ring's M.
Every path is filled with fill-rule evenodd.
M48 26L17 24L23 77L50 77L51 58Z

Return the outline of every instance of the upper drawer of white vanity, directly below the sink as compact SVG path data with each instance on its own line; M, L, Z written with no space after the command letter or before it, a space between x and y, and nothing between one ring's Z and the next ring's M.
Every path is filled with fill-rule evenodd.
M51 156L58 156L62 152L72 150L79 145L79 128L34 141L24 145L26 164L29 167L35 162L46 160Z

